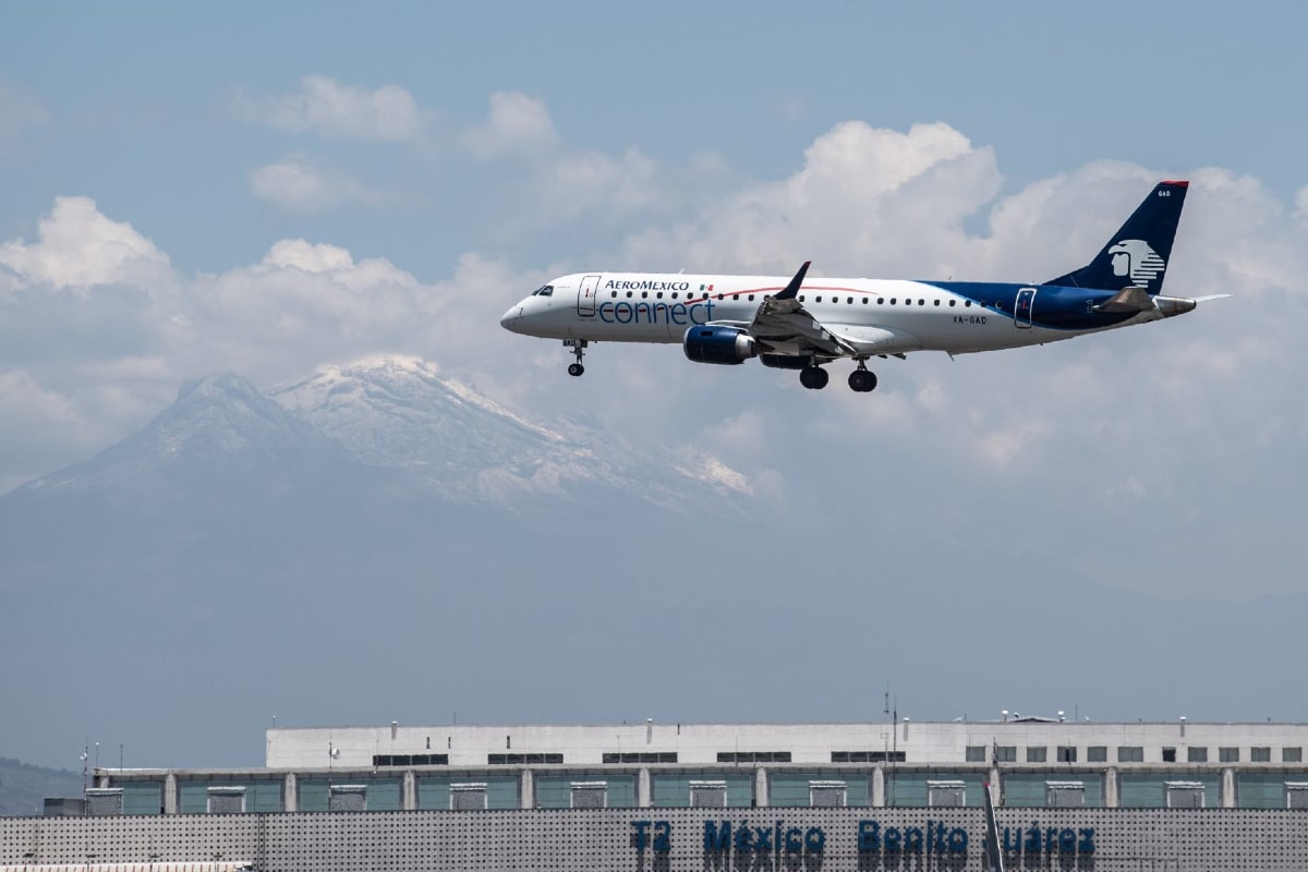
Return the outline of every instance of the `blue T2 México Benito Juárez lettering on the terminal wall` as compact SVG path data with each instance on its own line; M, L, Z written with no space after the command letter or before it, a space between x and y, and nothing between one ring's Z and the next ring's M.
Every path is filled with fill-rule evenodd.
M668 821L632 821L632 847L637 851L664 854L672 850L672 825ZM967 854L968 831L951 821L927 820L926 826L884 826L880 821L861 820L853 837L859 854ZM844 842L844 839L841 839ZM1035 856L1093 854L1095 829L1041 826L1003 828L1003 850L1007 854ZM790 826L783 820L759 825L751 821L704 821L704 850L710 854L823 854L828 850L827 830L821 826ZM844 845L844 850L848 850Z

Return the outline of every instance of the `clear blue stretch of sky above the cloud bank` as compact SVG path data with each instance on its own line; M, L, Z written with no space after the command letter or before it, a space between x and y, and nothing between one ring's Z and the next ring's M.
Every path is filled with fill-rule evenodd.
M488 173L449 148L492 93L543 101L579 148L664 165L723 156L738 178L793 171L833 124L943 120L997 150L1008 187L1113 158L1303 184L1299 4L7 4L0 81L47 120L0 165L0 235L58 193L92 196L182 269L221 271L268 239L349 242L432 280L470 247L527 267L551 251L496 233ZM237 94L305 76L398 85L425 119L377 146L233 116ZM16 150L17 149L17 150ZM252 166L309 154L408 193L388 209L269 210ZM453 201L467 221L451 221ZM360 214L362 212L362 214ZM551 239L555 256L576 250Z

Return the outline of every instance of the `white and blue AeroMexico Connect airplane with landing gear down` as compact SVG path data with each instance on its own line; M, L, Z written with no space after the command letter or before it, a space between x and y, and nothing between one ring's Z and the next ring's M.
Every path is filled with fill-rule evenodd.
M1040 284L581 272L534 290L500 319L514 333L561 339L569 375L591 343L680 343L697 363L798 370L827 387L825 365L854 362L849 387L876 387L872 357L950 356L1044 345L1193 311L1159 292L1189 182L1159 182L1080 269Z

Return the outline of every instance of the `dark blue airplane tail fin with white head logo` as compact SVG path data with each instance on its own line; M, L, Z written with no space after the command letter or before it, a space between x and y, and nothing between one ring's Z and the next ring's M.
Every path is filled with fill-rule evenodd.
M1189 186L1189 182L1159 182L1093 260L1045 284L1096 290L1135 286L1150 294L1160 292Z

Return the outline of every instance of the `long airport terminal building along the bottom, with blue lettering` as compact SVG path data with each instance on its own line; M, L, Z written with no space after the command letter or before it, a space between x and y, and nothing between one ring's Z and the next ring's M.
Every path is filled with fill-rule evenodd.
M1308 868L1308 724L283 728L256 770L98 769L0 869Z

